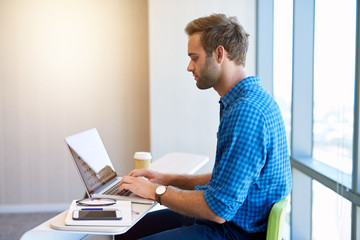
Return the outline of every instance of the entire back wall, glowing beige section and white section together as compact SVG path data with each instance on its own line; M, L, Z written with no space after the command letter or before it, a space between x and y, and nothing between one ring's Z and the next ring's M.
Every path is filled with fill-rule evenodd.
M210 170L219 97L186 72L184 28L212 12L238 16L254 74L255 3L0 0L0 211L82 197L64 137L93 127L120 174L150 150L150 133L155 159L205 154Z

